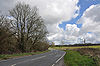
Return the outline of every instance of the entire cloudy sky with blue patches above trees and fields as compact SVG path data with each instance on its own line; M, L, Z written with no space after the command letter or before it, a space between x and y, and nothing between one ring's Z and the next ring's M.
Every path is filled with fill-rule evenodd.
M0 14L9 14L19 1L39 8L50 42L100 43L100 0L0 0Z

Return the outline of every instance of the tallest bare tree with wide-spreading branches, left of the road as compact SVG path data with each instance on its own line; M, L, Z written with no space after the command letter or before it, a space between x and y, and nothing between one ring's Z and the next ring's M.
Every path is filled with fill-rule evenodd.
M21 52L25 52L26 45L30 44L30 49L36 42L43 40L48 33L43 19L39 16L38 9L30 8L28 4L19 3L9 11L13 17L11 26L18 41L18 47Z

